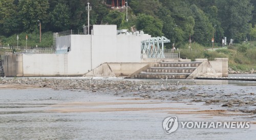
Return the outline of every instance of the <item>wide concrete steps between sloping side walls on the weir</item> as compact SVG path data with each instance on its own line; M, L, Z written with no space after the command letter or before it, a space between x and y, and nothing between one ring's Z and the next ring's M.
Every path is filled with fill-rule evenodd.
M143 79L186 79L202 62L161 62L136 74Z

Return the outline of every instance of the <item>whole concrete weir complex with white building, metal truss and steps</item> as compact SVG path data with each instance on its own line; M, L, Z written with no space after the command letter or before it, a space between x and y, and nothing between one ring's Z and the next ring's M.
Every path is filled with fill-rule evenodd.
M54 53L9 53L2 59L6 76L104 76L127 78L226 77L228 60L179 59L164 52L165 37L143 31L117 31L116 25L93 25L90 35L55 33Z

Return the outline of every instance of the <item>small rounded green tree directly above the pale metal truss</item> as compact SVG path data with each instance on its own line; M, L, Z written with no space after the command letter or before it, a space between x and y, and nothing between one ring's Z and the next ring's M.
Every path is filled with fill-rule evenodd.
M151 15L139 14L136 19L137 30L143 30L145 33L153 37L162 36L163 23L160 19Z

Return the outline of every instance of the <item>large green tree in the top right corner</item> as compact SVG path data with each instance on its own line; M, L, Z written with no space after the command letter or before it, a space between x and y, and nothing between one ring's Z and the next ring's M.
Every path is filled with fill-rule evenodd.
M253 6L250 0L216 0L224 35L242 41L249 32Z

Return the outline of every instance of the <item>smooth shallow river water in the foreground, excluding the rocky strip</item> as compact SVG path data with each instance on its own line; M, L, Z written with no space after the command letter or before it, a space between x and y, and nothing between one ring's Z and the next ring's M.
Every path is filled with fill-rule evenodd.
M256 91L255 82L220 82L219 80L198 82L201 85L212 85L212 82L221 85L225 82L226 84L222 85L224 88L247 88ZM135 100L133 97L113 94L33 88L0 89L0 97L0 139L254 139L256 137L255 114L187 113L194 110L222 109L219 105L209 106L202 102ZM250 121L251 123L249 129L183 129L179 125L175 132L166 134L162 122L166 117L172 116L176 116L179 122Z

